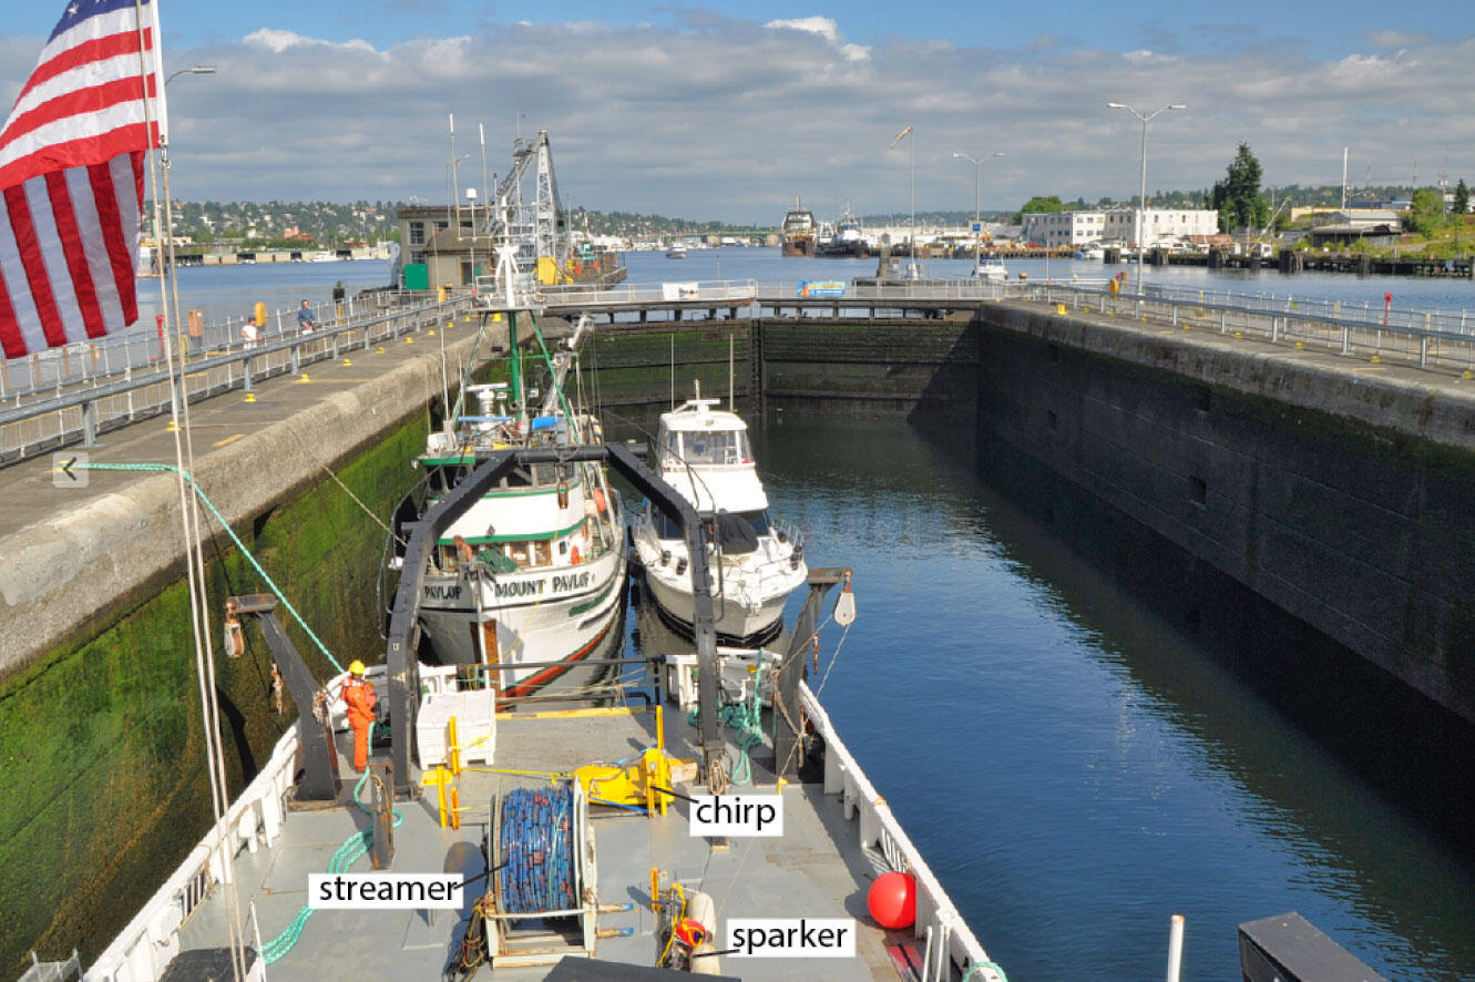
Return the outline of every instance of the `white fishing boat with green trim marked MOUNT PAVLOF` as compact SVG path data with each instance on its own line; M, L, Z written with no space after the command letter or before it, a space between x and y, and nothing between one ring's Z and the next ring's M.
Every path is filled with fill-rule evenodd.
M425 472L414 520L496 450L558 451L602 438L599 420L563 391L581 332L550 354L531 311L502 313L509 380L471 385L468 366L451 417L414 462ZM522 341L534 342L531 355ZM524 380L530 358L546 370L541 401ZM463 411L466 394L476 400L472 414ZM404 506L400 516L403 526ZM516 467L437 540L422 585L422 643L435 664L493 666L504 694L528 694L618 640L624 582L621 497L603 469L591 462ZM597 674L593 668L565 683Z

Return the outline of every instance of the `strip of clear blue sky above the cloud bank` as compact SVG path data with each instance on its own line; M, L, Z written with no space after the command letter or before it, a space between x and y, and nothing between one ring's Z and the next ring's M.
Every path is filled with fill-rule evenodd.
M56 0L28 0L22 10L6 15L4 29L18 35L41 35L50 31L60 7ZM299 34L330 41L363 38L376 47L389 47L419 37L476 34L488 27L516 21L690 27L711 18L763 24L817 15L842 24L847 37L860 44L881 44L892 38L944 38L960 47L1146 47L1180 55L1285 44L1314 56L1357 50L1369 29L1431 35L1460 29L1460 22L1468 19L1469 12L1468 6L1450 0L1406 0L1397 4L1386 0L1150 0L1117 4L1056 0L1043 9L1043 15L1041 7L1034 4L993 0L926 3L916 7L894 0L820 0L798 4L774 0L740 4L593 0L559 0L552 4L506 0L361 0L338 4L164 0L161 7L165 38L186 47L245 37L261 27L289 27Z

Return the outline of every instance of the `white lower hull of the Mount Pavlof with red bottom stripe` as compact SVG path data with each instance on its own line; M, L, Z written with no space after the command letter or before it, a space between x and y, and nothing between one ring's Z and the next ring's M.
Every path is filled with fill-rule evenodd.
M577 566L497 574L481 579L481 612L471 581L459 574L429 575L420 597L420 622L441 664L481 664L476 624L494 625L488 662L503 666L507 694L527 694L578 666L605 641L624 602L625 557L618 550ZM522 668L521 662L562 662ZM599 675L596 666L578 672Z

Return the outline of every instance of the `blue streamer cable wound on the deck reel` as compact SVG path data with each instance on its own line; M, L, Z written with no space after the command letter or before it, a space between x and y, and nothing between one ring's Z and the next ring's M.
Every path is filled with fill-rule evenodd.
M502 802L502 908L537 914L578 907L574 883L574 792L568 784L518 787Z

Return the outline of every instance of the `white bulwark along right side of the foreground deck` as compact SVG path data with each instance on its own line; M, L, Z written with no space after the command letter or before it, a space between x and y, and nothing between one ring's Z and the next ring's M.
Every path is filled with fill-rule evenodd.
M901 823L891 814L886 799L876 793L850 749L841 742L829 714L805 683L799 683L799 703L825 740L825 793L841 795L847 818L858 818L860 845L879 851L892 870L910 873L916 880L917 907L914 936L926 939L922 982L948 982L953 972L968 975L976 966L976 982L1003 982L984 947L953 907L947 892Z

